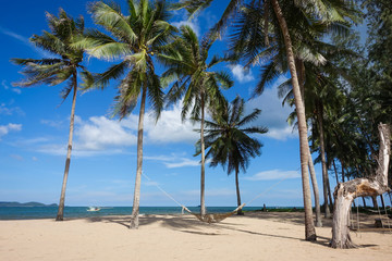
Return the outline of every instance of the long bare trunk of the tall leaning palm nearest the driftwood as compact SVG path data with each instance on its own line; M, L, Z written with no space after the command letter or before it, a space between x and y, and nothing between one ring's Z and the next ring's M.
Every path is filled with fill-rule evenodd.
M309 145L307 140L305 108L301 98L301 89L299 89L298 78L295 69L293 45L291 41L287 24L285 22L285 18L283 17L282 10L279 5L278 0L271 0L271 2L284 38L284 44L285 44L284 46L286 49L287 63L292 76L294 101L295 101L295 108L298 120L301 170L302 170L304 209L305 209L305 239L309 241L314 241L316 240L317 236L316 236L315 223L313 220L310 185L309 185L309 176L307 172Z

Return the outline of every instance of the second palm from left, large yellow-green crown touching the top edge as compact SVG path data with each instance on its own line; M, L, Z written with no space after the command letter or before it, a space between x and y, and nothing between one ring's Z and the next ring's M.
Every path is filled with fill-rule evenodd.
M105 88L111 79L120 79L114 114L126 116L137 104L140 110L137 132L137 166L130 228L138 228L143 165L143 125L147 96L156 112L157 120L163 105L163 92L155 71L155 53L159 53L175 33L169 24L168 4L163 0L150 3L148 0L127 1L128 15L124 15L114 2L94 2L88 7L97 25L110 32L108 36L91 29L76 46L84 47L98 59L121 60L105 73L90 78L91 88Z

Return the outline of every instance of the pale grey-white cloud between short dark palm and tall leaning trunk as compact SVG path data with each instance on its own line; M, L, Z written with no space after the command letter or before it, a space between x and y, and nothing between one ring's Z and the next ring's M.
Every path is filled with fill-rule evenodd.
M278 98L278 86L286 80L286 77L280 77L272 88L267 88L259 97L246 102L246 113L254 109L260 109L261 114L254 124L259 124L269 128L264 136L273 139L285 140L296 138L297 132L292 130L292 126L286 122L293 108L282 107L282 100Z

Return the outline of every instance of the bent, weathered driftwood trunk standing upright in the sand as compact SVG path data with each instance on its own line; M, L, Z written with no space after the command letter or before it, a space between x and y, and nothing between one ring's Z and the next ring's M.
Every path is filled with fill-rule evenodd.
M388 191L388 169L391 150L391 132L387 124L379 124L380 148L376 175L371 178L355 178L335 187L332 223L332 248L355 248L348 229L350 208L356 197L376 197Z

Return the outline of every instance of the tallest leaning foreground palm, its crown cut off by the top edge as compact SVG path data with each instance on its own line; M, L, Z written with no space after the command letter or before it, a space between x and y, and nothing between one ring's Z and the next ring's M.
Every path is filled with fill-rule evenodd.
M208 1L199 1L199 0L185 0L177 4L177 8L185 8L191 14L198 12L210 5L212 0ZM228 8L224 10L222 17L212 28L212 33L210 34L212 39L216 39L220 36L220 33L229 24L230 17L236 14L243 3L246 2L244 0L231 0L228 3ZM308 140L307 140L307 126L306 126L306 117L305 117L305 107L303 103L303 99L301 96L301 86L298 83L297 69L295 65L295 54L292 41L292 35L290 33L286 17L285 15L290 13L290 10L282 11L282 8L286 8L286 3L292 3L292 0L266 0L266 1L249 1L250 4L261 4L265 10L265 23L254 23L253 26L248 27L249 30L256 30L258 33L257 40L260 41L264 39L266 46L269 42L269 28L268 25L271 21L275 21L275 27L280 28L280 33L273 35L274 37L283 38L284 49L286 62L289 65L290 73L292 75L292 85L293 85L293 94L294 101L296 107L296 113L298 119L298 133L299 133L299 153L301 153L301 169L302 169L302 181L303 181L303 194L304 194L304 209L305 209L305 238L306 240L316 240L316 231L313 221L311 213L311 198L310 198L310 186L309 186L309 177L307 173L308 167ZM344 18L345 15L350 14L350 12L338 12L335 7L343 7L345 3L350 3L350 1L338 0L307 0L307 1L294 1L294 4L301 8L301 11L306 13L306 15L311 21L320 21L327 20L331 16L339 16L341 20ZM292 4L289 4L292 5ZM272 14L272 15L269 15ZM262 28L262 34L259 34L259 28ZM262 37L260 37L262 36ZM259 44L259 42L255 42Z

